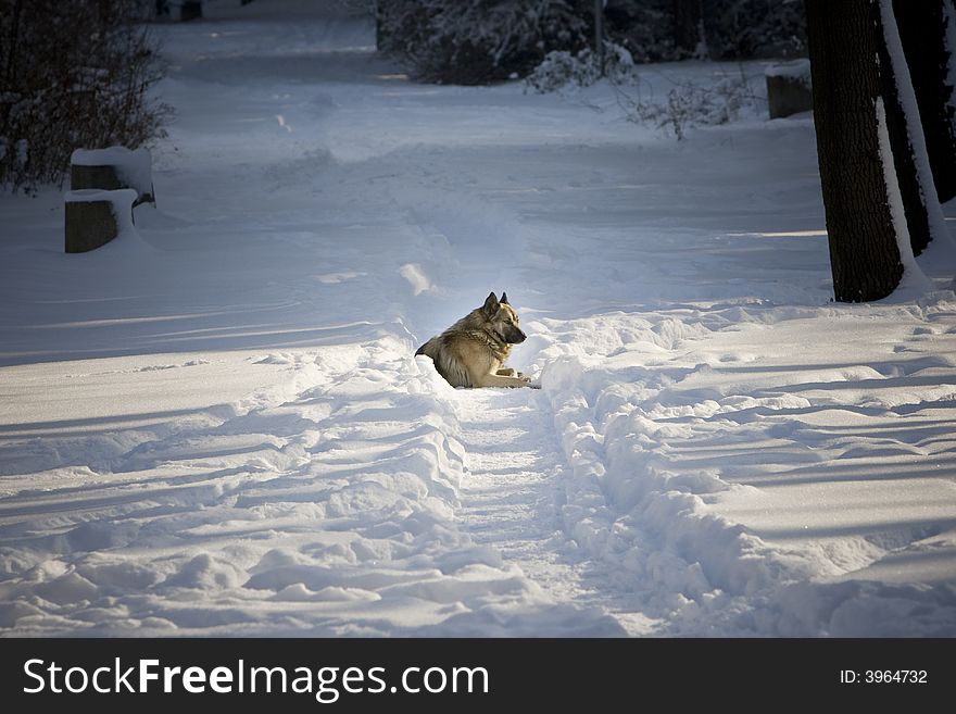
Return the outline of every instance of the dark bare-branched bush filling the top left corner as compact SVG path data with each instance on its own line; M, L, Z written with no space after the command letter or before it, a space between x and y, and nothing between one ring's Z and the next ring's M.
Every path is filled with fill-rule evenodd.
M166 108L137 0L0 0L0 186L62 183L78 148L137 148Z

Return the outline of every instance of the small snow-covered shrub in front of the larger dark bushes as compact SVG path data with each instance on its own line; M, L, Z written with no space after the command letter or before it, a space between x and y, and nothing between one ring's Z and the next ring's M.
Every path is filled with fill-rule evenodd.
M631 53L620 45L606 42L602 72L601 58L588 48L577 54L555 50L544 57L544 61L534 67L525 83L544 93L567 85L589 87L602 77L616 84L632 84L637 79L637 71Z

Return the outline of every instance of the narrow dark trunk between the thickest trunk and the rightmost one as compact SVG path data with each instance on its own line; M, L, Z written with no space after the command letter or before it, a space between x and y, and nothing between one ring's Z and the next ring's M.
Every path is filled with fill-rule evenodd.
M898 3L894 3L894 7L896 4ZM927 7L930 4L935 3L920 2L919 13L924 13ZM913 254L919 255L930 242L930 221L927 213L927 200L929 200L929 198L923 195L919 174L916 170L916 163L913 160L913 135L907 126L906 113L903 110L903 103L898 93L897 77L893 70L893 62L886 48L884 33L882 32L879 2L875 3L875 5L873 22L877 24L877 27L881 28L881 32L877 33L877 48L880 57L880 86L882 87L886 110L886 128L890 130L890 146L893 149L893 164L896 171L896 180L900 184L900 195L903 198L903 210L906 214L906 227L909 230L909 243L913 246ZM913 8L914 4L910 0L909 14L915 14ZM942 18L942 10L940 11L940 17ZM919 23L921 23L921 21L919 21ZM926 42L928 39L929 38L923 38L922 41ZM908 61L907 64L909 64ZM915 87L915 67L910 66L909 75ZM920 117L922 117L922 107L919 107L919 110ZM935 176L935 171L933 171L933 175ZM933 190L932 186L927 188Z

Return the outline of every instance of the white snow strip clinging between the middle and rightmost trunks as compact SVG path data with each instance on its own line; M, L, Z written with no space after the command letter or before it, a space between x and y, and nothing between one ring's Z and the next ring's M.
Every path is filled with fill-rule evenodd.
M896 27L896 18L893 14L892 0L879 0L880 4L880 24L883 29L883 45L890 60L889 73L885 76L892 77L896 99L903 113L906 135L908 140L908 151L911 152L911 161L915 168L916 188L918 191L919 202L922 210L916 204L915 200L910 200L907 205L907 225L910 229L910 241L913 242L914 252L917 254L926 248L929 240L947 240L948 231L946 229L946 220L943 210L940 206L940 199L936 195L935 183L933 181L933 172L930 167L929 154L926 146L926 135L922 130L922 123L919 114L919 107L916 101L916 92L913 88L913 80L909 76L909 67L906 64L906 57L903 53L903 42L900 39L900 30ZM902 133L901 133L902 134ZM902 142L896 143L897 151L904 150ZM908 162L910 156L896 156L896 167L900 172L901 163ZM900 172L903 173L903 172ZM921 214L926 215L923 216ZM914 225L926 224L927 235L926 241L922 236L913 235Z

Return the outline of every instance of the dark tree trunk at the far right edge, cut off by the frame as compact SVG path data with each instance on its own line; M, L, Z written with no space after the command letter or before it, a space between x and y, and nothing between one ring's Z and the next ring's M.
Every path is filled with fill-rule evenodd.
M949 105L953 87L948 84L944 2L952 12L953 0L893 2L940 201L956 197L956 110Z

